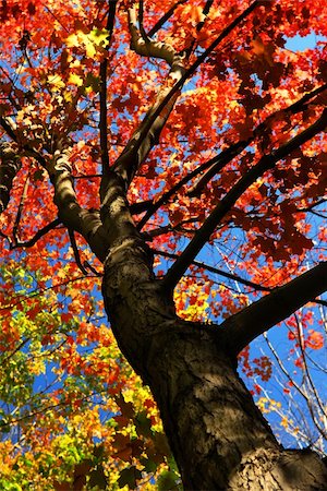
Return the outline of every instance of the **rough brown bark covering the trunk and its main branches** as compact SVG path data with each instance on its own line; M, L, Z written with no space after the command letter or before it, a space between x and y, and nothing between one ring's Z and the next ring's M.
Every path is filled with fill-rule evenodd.
M108 0L107 3L109 49L117 1ZM62 141L58 139L56 148L51 148L51 152L55 149L51 158L46 143L46 152L37 152L33 142L25 143L22 149L48 171L55 189L58 219L70 230L72 243L72 231L81 233L97 258L105 261L102 292L112 331L121 351L152 388L185 489L327 490L327 469L323 462L311 451L282 448L237 372L237 354L245 344L312 298L307 297L305 290L307 278L311 278L311 285L314 285L310 294L313 297L319 295L325 283L326 264L315 268L315 272L307 274L305 278L296 278L292 285L278 289L244 309L222 326L187 323L179 319L171 292L217 226L250 185L278 160L324 131L327 110L324 110L316 122L268 154L264 153L253 167L242 172L240 180L217 203L194 233L183 253L169 270L165 283L157 280L153 273L152 252L130 214L126 200L129 185L158 143L183 84L208 56L214 53L218 45L263 2L255 0L250 3L191 64L187 61L191 50L178 52L166 43L150 39L146 35L140 12L136 19L137 3L142 11L141 1L131 2L129 9L131 48L142 57L165 60L170 70L154 105L116 163L109 166L106 80L109 58L104 58L101 62L100 212L84 209L78 203L72 176L71 148L64 137ZM184 0L178 1L157 25L162 26L181 3L184 3ZM203 10L204 14L209 11L210 4L213 2L208 0ZM197 25L198 32L202 26L203 21ZM303 105L323 89L320 86L305 94L302 99L282 111L303 111ZM274 117L270 115L268 118ZM234 143L217 158L208 160L208 172L189 194L196 193L218 170L240 155L267 124L268 118L266 123L262 122L253 130L249 140ZM13 142L20 140L10 118L1 116L0 123ZM270 131L269 124L267 128ZM15 145L7 142L0 144L0 213L9 203L13 179L21 168L15 152ZM204 170L204 165L201 167ZM191 176L195 177L198 169L193 172L189 173L187 180ZM183 179L166 193L164 201L161 196L161 200L152 204L138 224L140 229L161 204L168 203L169 196L173 195L177 189L181 189L182 183L186 182ZM55 220L53 224L56 223L58 221ZM302 289L301 296L299 288ZM281 309L279 306L282 302L284 306Z

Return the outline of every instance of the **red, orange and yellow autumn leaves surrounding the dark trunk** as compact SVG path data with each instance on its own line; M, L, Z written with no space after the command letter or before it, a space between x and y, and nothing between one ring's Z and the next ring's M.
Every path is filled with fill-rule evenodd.
M228 322L323 263L326 10L2 0L0 21L0 488L182 489L82 218L99 220L110 166L128 175L155 275L194 323ZM78 206L71 224L64 206ZM280 439L323 454L326 301L307 300L239 367Z

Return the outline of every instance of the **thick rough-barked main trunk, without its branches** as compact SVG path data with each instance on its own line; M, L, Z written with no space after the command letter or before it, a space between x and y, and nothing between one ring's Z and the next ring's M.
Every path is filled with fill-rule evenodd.
M175 315L142 239L112 244L102 292L122 352L157 400L186 490L327 489L315 453L276 441L227 352L228 331Z

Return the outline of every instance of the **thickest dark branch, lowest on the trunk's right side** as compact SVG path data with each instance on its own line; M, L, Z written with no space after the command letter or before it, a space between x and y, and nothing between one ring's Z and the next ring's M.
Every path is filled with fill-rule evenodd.
M324 262L229 318L220 327L226 330L231 352L238 355L249 343L322 295L326 288L327 262Z

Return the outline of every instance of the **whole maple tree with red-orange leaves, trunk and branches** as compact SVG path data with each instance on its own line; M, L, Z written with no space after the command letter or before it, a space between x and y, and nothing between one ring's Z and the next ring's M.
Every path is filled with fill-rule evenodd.
M185 489L326 489L323 460L277 442L237 372L257 336L324 304L326 61L320 43L284 48L324 33L319 5L8 0L1 21L3 256L44 289L104 264L112 333ZM204 264L206 244L231 248L229 272ZM300 366L322 346L313 327L294 334Z

